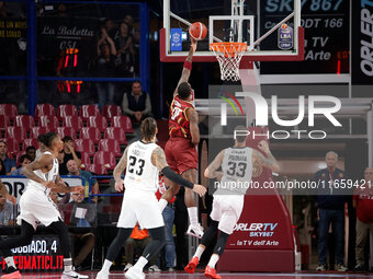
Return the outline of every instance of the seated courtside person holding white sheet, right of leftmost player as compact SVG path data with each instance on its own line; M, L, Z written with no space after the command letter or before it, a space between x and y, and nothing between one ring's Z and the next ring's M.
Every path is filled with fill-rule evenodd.
M94 247L94 234L91 228L95 226L97 208L95 204L88 204L84 200L82 193L72 193L72 201L70 204L74 205L70 226L79 228L70 229L75 246L82 245L78 255L74 258L74 266L77 270L81 270L83 269L81 264Z

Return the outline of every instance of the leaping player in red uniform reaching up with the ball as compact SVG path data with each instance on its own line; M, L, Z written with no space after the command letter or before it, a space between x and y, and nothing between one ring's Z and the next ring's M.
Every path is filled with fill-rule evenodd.
M190 102L193 90L188 81L192 70L192 58L195 49L196 42L192 40L181 78L173 92L169 116L170 139L165 147L166 159L169 166L192 183L196 182L199 158L195 147L200 142L200 130L199 115ZM161 211L180 189L179 185L176 185L169 179L165 179L165 182L169 188L159 200ZM199 223L194 195L195 194L192 190L185 188L184 201L188 207L188 214L191 223L187 233L202 239L203 228Z

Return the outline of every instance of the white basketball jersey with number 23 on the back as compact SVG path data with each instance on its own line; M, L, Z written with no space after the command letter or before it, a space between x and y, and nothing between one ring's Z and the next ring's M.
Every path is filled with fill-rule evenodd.
M159 170L151 163L151 153L156 148L158 148L156 143L145 143L140 140L129 146L124 178L126 189L157 191Z

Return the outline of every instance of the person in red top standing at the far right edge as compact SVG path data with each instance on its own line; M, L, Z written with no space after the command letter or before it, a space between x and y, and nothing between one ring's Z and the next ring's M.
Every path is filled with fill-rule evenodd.
M364 178L365 184L357 188L353 196L353 207L357 209L355 271L365 269L365 243L369 234L373 234L373 167L365 168Z

